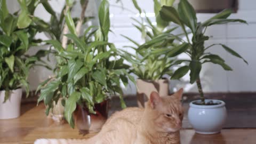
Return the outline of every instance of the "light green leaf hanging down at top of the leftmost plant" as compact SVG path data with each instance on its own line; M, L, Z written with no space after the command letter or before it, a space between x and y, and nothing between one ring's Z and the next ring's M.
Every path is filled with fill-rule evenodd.
M27 28L32 22L32 20L29 17L26 0L20 0L18 2L20 3L20 6L21 6L21 13L18 18L17 26L20 29Z

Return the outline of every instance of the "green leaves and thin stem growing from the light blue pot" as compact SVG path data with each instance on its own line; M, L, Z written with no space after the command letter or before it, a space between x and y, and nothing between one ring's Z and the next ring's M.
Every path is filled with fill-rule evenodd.
M209 20L204 22L198 22L196 17L196 12L193 6L187 0L181 0L178 4L178 10L176 10L172 6L162 6L160 11L160 15L163 20L174 22L181 27L183 32L186 35L186 41L177 37L178 41L185 45L180 49L177 49L180 53L186 53L189 56L189 60L186 60L186 65L178 68L174 74L172 75L171 79L179 79L182 76L186 75L190 70L190 83L193 84L196 82L198 87L198 92L201 95L201 103L199 105L207 105L205 103L204 93L201 86L200 81L200 71L202 65L207 62L211 62L217 65L220 65L225 70L232 70L219 55L212 54L209 51L211 47L214 45L221 45L223 49L225 49L228 53L234 55L235 57L241 58L234 50L230 49L228 46L224 44L212 44L208 47L204 46L204 42L207 41L210 37L205 35L205 30L213 25L220 25L229 22L242 22L246 23L246 21L241 19L228 19L229 15L231 14L231 10L223 10L222 12L214 15ZM189 30L186 30L188 28ZM193 37L189 39L188 34L191 33ZM170 51L173 51L171 49ZM164 53L166 52L163 50ZM167 50L169 51L169 50ZM244 59L243 59L244 60ZM244 60L245 63L247 61Z

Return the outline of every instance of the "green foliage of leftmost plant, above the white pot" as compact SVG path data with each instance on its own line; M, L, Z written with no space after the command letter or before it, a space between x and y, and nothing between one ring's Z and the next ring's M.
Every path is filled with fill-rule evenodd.
M0 0L0 90L5 90L6 101L11 90L26 88L27 96L29 84L27 82L29 69L35 65L46 66L41 57L48 51L40 50L35 55L27 55L31 46L41 42L35 39L38 21L43 20L34 17L37 6L34 1L18 1L21 9L15 13L9 13L6 1Z

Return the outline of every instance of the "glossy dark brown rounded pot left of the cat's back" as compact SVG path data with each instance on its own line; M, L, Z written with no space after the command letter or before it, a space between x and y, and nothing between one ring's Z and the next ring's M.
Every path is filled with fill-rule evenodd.
M108 118L109 100L101 103L95 103L94 111L96 114L90 114L86 107L77 105L75 111L75 123L80 133L98 132Z

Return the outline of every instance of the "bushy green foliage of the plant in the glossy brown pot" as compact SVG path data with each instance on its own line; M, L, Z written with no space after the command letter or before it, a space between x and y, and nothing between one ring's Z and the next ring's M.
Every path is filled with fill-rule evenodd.
M67 13L68 14L68 13ZM52 108L53 101L62 97L65 106L65 118L71 127L74 127L73 112L77 105L89 109L94 113L94 103L109 99L111 95L119 93L121 106L125 108L121 84L125 86L128 80L134 82L123 64L123 55L115 45L108 43L110 31L109 3L103 0L99 7L100 26L94 33L78 37L72 19L66 23L70 34L66 36L71 40L67 49L64 49L57 40L52 41L55 47L55 57L58 57L58 70L54 79L47 79L38 90L41 90L39 101L47 106L46 114ZM121 56L121 57L120 57ZM127 55L124 55L128 58ZM46 84L46 85L45 85Z

